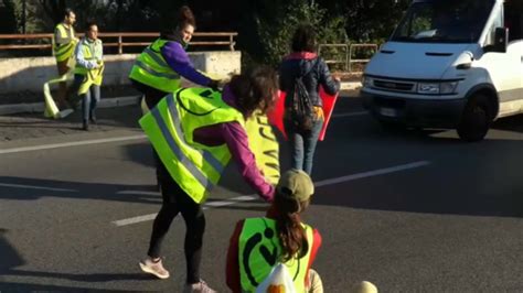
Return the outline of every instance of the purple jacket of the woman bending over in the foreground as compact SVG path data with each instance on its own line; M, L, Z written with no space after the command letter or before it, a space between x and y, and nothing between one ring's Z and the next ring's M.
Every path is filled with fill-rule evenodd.
M222 97L227 105L237 109L236 97L234 97L228 86L223 89ZM273 202L275 188L265 180L256 165L254 154L248 146L247 133L238 122L226 122L196 129L194 141L205 145L227 144L244 180L266 202Z

